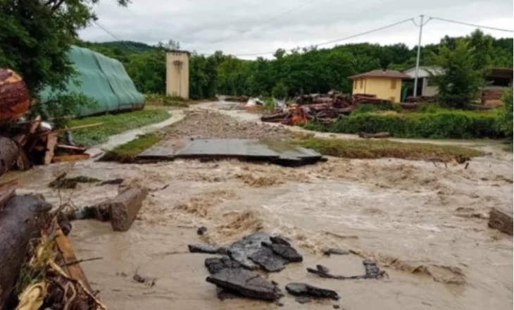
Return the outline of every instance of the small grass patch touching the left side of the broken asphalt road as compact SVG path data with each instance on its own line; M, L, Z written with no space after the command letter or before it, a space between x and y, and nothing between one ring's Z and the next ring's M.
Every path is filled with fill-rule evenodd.
M115 147L112 151L108 151L102 158L104 161L120 161L120 162L132 162L134 157L140 154L145 149L153 147L161 141L161 135L158 132L151 132L145 135L140 135L136 139L121 144Z

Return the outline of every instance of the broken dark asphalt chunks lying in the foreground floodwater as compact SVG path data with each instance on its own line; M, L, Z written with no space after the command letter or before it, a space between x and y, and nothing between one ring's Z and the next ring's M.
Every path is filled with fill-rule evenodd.
M284 237L257 232L227 246L213 244L189 244L189 252L220 254L208 257L205 266L210 275L208 283L218 287L218 298L252 298L282 304L279 299L284 293L275 281L268 281L263 272L277 273L289 263L301 263L303 256ZM330 249L333 254L348 254L340 249ZM340 276L331 275L328 268L318 265L318 269L307 268L308 273L315 273L322 278L377 279L387 275L370 260L363 261L365 275ZM315 287L306 283L289 283L285 291L295 297L296 302L304 304L311 299L339 300L339 294L333 290ZM335 304L334 308L339 307Z

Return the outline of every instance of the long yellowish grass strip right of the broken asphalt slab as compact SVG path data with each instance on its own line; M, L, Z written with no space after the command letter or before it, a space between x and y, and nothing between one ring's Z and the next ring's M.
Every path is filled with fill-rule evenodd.
M314 149L318 153L347 159L380 159L451 161L456 157L482 156L484 153L466 147L425 143L401 143L388 140L342 140L301 137L292 144Z

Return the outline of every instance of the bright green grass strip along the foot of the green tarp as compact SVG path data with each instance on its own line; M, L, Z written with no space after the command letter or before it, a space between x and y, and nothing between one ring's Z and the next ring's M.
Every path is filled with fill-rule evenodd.
M91 147L92 145L106 142L111 135L117 135L118 133L139 128L144 125L159 123L168 118L170 118L170 114L165 110L149 109L130 113L68 120L66 125L70 128L80 125L104 123L104 125L99 127L76 130L73 132L75 144Z

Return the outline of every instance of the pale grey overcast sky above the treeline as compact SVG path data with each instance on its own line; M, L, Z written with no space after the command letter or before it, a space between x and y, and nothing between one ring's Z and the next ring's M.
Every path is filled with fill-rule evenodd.
M156 44L175 39L182 49L212 53L253 54L292 49L356 35L419 15L513 30L512 0L115 0L94 6L99 24L118 39ZM426 18L425 18L426 20ZM430 20L422 44L444 35L467 35L473 27ZM494 37L512 32L484 30ZM115 40L92 24L80 32L87 41ZM350 42L418 44L412 22L348 39ZM328 44L323 47L330 47ZM245 56L243 58L254 58Z

